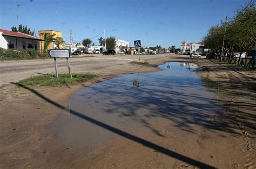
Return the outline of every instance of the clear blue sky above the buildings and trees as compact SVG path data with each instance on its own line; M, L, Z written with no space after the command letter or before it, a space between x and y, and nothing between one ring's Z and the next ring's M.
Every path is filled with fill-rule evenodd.
M144 47L169 47L180 42L201 41L208 29L232 17L247 0L0 0L0 29L10 30L19 23L30 29L57 30L69 41L91 38L105 29L106 37L142 40ZM38 34L38 33L37 33ZM103 36L103 34L101 35ZM98 44L98 40L92 41Z

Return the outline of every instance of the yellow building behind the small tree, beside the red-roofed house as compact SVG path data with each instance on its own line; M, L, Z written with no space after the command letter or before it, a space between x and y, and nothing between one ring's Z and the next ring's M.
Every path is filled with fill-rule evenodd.
M44 39L45 34L46 35L53 34L53 38L57 38L57 37L62 38L62 32L60 32L60 31L53 31L53 30L46 30L46 31L38 31L39 39ZM56 48L56 47L57 47L57 45L55 43L55 40L53 40L49 44L47 50L50 50L50 49L53 49L53 48ZM41 48L41 51L44 51L44 41L42 41L40 48ZM62 48L61 44L59 45L59 48Z

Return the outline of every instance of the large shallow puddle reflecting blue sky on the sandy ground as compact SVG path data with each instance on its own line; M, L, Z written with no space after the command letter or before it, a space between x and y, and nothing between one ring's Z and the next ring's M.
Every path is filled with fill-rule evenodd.
M79 112L122 131L139 130L165 118L177 126L206 123L218 110L213 93L203 86L195 64L167 62L162 71L123 75L85 87L70 100L71 114L60 114L49 125L63 144L90 146L114 134L72 115Z

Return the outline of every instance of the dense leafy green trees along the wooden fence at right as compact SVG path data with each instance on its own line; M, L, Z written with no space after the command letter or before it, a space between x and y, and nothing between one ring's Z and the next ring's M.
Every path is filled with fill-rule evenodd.
M215 25L208 30L204 37L206 48L211 48L214 59L250 67L254 43L256 41L256 8L254 2L238 10L232 18ZM233 52L239 52L235 56ZM241 57L246 52L245 58ZM252 67L251 67L252 68Z

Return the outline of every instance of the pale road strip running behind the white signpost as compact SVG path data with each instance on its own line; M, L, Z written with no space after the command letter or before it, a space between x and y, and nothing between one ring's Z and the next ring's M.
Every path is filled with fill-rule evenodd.
M158 58L159 55L143 55L142 59ZM137 55L114 55L89 58L70 58L70 65L73 73L93 71L101 72L100 69L114 69L116 66L125 65L128 62L138 59ZM57 59L59 73L68 73L66 59ZM33 75L55 73L53 59L46 60L18 60L0 61L0 87L8 85Z

